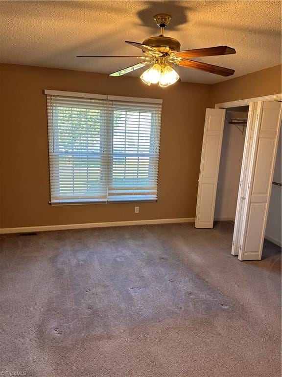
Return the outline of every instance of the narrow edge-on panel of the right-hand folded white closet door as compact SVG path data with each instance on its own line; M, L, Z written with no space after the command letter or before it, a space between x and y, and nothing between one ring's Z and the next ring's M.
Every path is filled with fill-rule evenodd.
M246 138L244 144L244 152L241 166L240 174L240 184L238 190L237 206L236 206L236 215L235 215L235 224L234 224L234 233L233 233L233 242L232 242L232 255L239 254L240 247L240 238L242 232L242 220L246 205L246 192L248 187L248 174L251 154L254 147L254 132L255 132L255 123L256 123L256 113L257 113L257 102L250 102L248 121L246 127Z

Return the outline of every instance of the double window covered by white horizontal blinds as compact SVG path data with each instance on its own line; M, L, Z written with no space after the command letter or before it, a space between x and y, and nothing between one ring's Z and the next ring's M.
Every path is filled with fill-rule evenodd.
M157 200L161 100L45 93L51 204Z

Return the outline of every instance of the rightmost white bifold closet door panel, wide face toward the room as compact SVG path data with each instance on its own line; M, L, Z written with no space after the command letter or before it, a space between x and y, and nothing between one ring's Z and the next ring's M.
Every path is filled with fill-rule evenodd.
M281 124L280 102L258 102L239 260L261 259Z

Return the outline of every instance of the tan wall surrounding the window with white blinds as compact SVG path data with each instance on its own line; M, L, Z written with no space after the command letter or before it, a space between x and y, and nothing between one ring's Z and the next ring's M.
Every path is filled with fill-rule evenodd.
M147 87L139 78L0 65L2 228L154 218L194 217L205 108L210 85L179 82ZM157 203L48 204L47 109L44 89L162 98Z

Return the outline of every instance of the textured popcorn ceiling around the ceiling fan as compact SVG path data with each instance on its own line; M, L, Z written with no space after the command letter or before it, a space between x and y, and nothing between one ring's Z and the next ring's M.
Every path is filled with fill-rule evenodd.
M199 59L235 69L231 78L281 63L281 1L256 0L0 1L0 61L108 74L138 60L75 56L139 54L124 41L158 35L153 16L161 12L172 15L165 35L178 39L182 50L235 48L235 55ZM182 81L230 79L183 67L177 71Z

